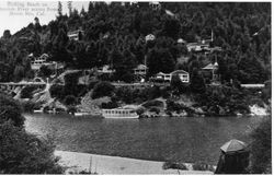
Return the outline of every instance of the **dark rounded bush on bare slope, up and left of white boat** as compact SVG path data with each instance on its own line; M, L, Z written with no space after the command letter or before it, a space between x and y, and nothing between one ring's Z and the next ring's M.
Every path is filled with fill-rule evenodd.
M99 98L103 96L111 96L115 90L115 86L109 82L102 81L94 85L92 98Z

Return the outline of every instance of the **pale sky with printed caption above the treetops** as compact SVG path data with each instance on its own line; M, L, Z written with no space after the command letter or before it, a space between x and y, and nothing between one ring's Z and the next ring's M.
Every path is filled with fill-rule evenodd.
M67 1L61 1L62 13L68 14ZM79 12L82 7L88 10L89 1L72 1L72 8ZM39 19L41 25L48 24L56 19L58 1L38 1L38 0L9 0L0 1L0 36L4 30L10 30L11 34L16 33L31 22L34 17Z

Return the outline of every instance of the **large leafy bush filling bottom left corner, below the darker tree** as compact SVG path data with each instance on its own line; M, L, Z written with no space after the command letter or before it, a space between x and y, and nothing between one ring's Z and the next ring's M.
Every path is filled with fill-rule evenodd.
M62 174L48 140L26 133L11 122L0 125L1 174Z

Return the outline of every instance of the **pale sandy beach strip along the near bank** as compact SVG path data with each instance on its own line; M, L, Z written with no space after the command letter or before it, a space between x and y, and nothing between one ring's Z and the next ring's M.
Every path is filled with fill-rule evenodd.
M153 162L119 156L106 156L89 153L56 151L55 155L60 156L60 164L68 167L69 173L79 173L81 171L98 174L213 174L209 171L178 171L163 169L164 162ZM186 164L192 169L191 164Z

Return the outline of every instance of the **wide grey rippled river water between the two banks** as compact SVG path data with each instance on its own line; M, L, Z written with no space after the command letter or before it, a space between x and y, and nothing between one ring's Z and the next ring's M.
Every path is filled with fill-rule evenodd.
M231 139L250 142L259 117L100 119L25 114L26 130L54 139L57 150L152 161L216 165Z

